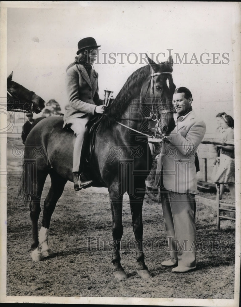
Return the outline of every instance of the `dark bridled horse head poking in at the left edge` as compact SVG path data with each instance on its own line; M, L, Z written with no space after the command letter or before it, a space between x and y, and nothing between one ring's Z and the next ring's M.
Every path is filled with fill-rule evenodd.
M45 101L33 91L12 80L13 72L7 77L7 111L40 113Z

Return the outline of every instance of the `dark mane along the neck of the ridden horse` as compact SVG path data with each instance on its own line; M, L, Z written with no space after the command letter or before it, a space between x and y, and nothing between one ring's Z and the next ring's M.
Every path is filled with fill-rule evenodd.
M146 65L137 69L131 76L129 76L114 101L106 110L107 116L105 118L110 124L119 120L123 116L128 105L131 103L131 100L140 94L143 82L149 78L150 72L150 65Z

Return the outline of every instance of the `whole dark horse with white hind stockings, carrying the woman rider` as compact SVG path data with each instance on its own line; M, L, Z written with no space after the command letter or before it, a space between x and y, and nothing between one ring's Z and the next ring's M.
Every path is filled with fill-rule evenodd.
M114 276L126 278L120 262L120 240L123 235L123 194L130 198L133 231L138 248L136 260L138 274L151 277L144 262L142 206L146 192L145 179L151 170L152 157L147 137L148 122L159 123L161 131L175 127L172 96L175 90L172 74L173 62L149 64L139 68L128 79L117 97L106 110L95 135L94 150L90 155L88 172L92 186L107 187L112 212L114 251L112 263ZM20 194L30 202L32 221L32 258L39 261L53 255L48 244L48 230L55 205L62 195L66 182L73 182L72 162L75 136L71 130L62 129L60 117L42 119L26 139ZM149 134L147 134L149 133ZM90 147L88 147L90 148ZM89 150L90 151L90 150ZM38 239L40 197L47 175L51 187L44 200L42 227ZM40 247L42 250L40 250Z

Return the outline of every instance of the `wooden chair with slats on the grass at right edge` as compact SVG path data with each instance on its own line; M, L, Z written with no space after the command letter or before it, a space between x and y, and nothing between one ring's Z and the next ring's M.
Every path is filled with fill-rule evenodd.
M235 184L234 182L215 182L217 185L217 228L220 229L220 221L221 220L232 220L235 221L235 218L229 216L221 215L221 212L234 212L235 213L235 200L220 200L220 185L227 185L227 184Z

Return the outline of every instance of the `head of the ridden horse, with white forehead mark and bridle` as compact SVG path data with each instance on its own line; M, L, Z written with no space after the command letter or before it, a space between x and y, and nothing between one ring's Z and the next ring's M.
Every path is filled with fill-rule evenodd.
M162 132L170 132L175 127L173 119L172 97L175 91L175 84L172 79L173 59L172 56L167 61L156 64L147 56L151 67L151 79L147 85L145 97L143 97L142 109L151 107L151 116L154 121L159 122Z

